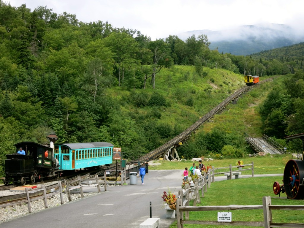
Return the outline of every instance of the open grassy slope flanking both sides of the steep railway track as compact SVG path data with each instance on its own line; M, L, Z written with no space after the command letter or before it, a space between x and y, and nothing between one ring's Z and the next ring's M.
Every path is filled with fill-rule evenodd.
M196 131L197 134L192 135L193 137L188 140L188 146L178 148L180 156L192 158L221 154L221 148L213 150L204 147L206 143L204 146L197 143L214 129L220 129L223 136L233 135L227 136L228 141L229 137L233 139L222 146L231 144L233 149L240 151L238 157L251 153L252 150L244 141L244 132L252 136L262 136L257 108L275 83L280 83L280 80L260 85L243 95L237 102L228 105L225 111L214 116L211 122L205 123ZM244 86L243 76L231 71L205 67L202 76L199 76L192 66L174 66L171 69L164 68L156 75L155 90L147 83L145 90L127 91L123 87L116 87L107 92L121 104L121 111L126 116L130 116L136 124L146 124L144 128L148 132L151 128L147 127L147 122L157 127L161 138L157 138L155 134L150 135L147 150L142 148L142 152L147 153L184 131L230 94ZM167 105L139 107L134 104L134 100L130 101L134 94L151 97L155 92L165 97Z

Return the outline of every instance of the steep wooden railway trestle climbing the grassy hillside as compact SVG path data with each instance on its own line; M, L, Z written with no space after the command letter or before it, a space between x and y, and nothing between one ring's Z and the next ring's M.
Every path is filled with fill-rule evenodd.
M210 112L208 112L205 116L200 118L198 121L196 121L194 124L192 124L190 127L188 127L185 131L180 133L179 135L175 136L173 139L169 140L167 143L163 144L162 146L158 147L155 150L152 150L148 154L143 155L138 159L138 161L143 161L146 158L149 159L159 159L163 158L166 160L180 160L176 148L179 147L182 143L186 143L186 140L188 137L191 136L193 132L195 132L196 129L198 129L202 123L205 123L209 119L211 119L216 113L222 111L226 105L228 105L231 101L238 98L242 93L249 91L254 86L260 85L264 82L271 81L273 78L268 78L266 80L260 81L252 86L246 86L243 88L240 88L238 91L234 92L232 95L230 95L228 98L226 98L223 102L221 102L219 105L217 105L215 108L213 108Z

